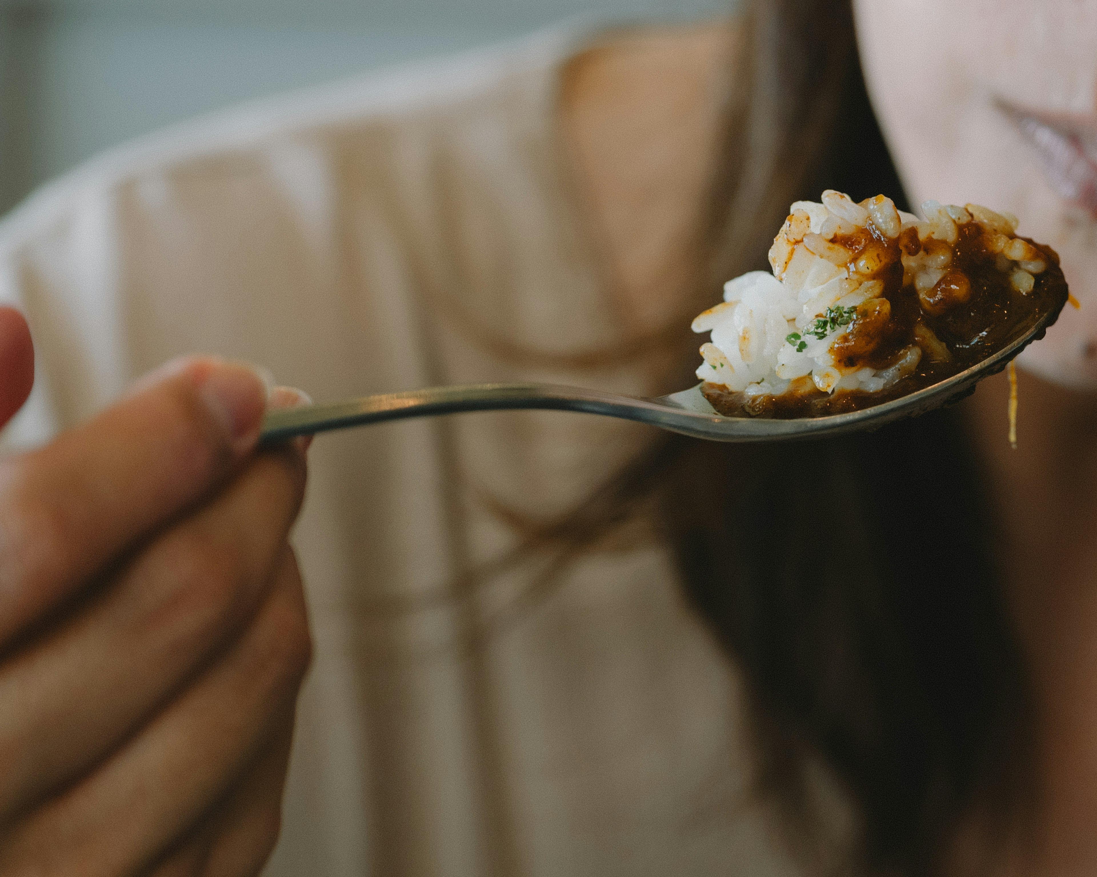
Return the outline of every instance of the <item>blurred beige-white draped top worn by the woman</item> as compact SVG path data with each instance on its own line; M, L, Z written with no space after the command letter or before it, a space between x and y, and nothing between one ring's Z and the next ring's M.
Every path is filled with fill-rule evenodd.
M35 443L165 360L260 363L317 400L539 380L625 331L557 124L590 35L420 65L165 133L0 225ZM793 868L749 801L734 673L652 532L545 582L466 586L642 449L510 412L317 440L295 544L316 639L268 875L709 877Z

